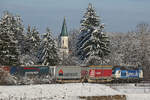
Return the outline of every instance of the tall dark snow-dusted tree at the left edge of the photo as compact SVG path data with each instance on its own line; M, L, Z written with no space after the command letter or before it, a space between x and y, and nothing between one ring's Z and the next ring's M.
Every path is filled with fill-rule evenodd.
M19 44L18 37L22 31L18 17L9 12L4 12L0 20L0 63L2 65L18 65Z

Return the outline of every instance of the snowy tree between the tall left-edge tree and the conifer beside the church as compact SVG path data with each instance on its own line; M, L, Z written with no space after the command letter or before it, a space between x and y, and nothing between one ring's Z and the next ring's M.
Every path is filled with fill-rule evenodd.
M40 45L40 34L36 27L31 28L30 25L27 28L27 34L25 36L25 42L23 44L23 57L21 58L22 64L36 64L38 61L37 52Z

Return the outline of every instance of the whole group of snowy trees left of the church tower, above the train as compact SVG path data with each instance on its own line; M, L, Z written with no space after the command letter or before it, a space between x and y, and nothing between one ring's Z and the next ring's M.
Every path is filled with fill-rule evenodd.
M1 65L56 65L59 61L57 51L49 28L45 34L30 25L25 29L20 16L4 12L0 20Z

